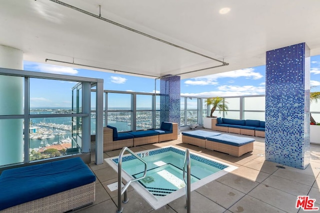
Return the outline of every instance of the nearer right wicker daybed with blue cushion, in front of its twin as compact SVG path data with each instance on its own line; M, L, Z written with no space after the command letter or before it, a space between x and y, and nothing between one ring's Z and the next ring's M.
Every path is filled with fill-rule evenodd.
M205 148L239 157L253 150L253 142L253 138L222 134L206 137Z

